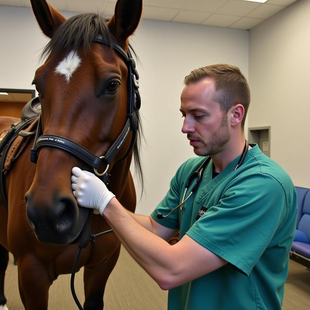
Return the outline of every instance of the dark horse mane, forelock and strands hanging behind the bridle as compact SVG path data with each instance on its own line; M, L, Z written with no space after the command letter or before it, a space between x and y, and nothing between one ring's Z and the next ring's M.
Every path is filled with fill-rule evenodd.
M91 44L97 34L102 35L105 41L112 42L112 34L108 29L107 22L109 19L104 18L99 13L86 13L74 15L53 33L51 40L43 48L40 54L39 61L51 56L56 57L61 52L65 51L66 54L71 50L76 50L82 47L83 53L87 53L91 49ZM135 58L138 60L137 54L129 44L129 48ZM113 49L111 45L111 49ZM137 130L136 141L133 147L134 167L138 180L141 184L141 196L144 191L144 176L142 170L142 162L140 157L141 141L144 139L141 117L137 111L139 127Z

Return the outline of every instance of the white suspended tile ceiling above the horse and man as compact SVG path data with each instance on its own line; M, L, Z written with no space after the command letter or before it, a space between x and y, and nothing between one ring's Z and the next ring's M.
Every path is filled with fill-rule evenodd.
M117 0L49 0L59 11L105 12L112 16ZM217 27L251 29L297 0L144 0L143 18ZM30 7L29 0L0 0L1 5ZM1 9L1 7L0 7Z

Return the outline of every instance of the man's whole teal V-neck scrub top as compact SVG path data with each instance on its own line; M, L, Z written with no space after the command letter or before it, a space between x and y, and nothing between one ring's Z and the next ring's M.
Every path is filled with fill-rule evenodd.
M297 217L297 195L287 173L256 144L235 171L237 157L212 179L212 160L185 210L177 206L189 176L206 157L182 164L152 218L180 230L228 264L168 293L169 310L281 310ZM188 189L190 193L195 180ZM204 206L207 211L198 220ZM175 262L178 263L178 262Z

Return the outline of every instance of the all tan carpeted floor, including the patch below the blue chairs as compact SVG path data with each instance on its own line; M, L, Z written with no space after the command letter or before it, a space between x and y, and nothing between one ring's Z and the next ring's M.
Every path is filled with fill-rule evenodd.
M82 272L81 269L76 275L75 290L83 304ZM12 256L7 268L5 293L9 310L24 309L18 293L17 267L13 265ZM122 248L120 258L107 283L104 310L164 310L166 301L167 292L161 290ZM308 310L309 308L310 272L302 265L291 261L282 310ZM70 275L60 276L51 286L48 310L55 309L77 309L70 292Z

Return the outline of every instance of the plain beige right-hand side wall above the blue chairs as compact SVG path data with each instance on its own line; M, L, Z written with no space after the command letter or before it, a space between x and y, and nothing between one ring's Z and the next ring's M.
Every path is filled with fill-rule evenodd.
M248 126L271 126L271 157L310 187L310 1L250 30Z

